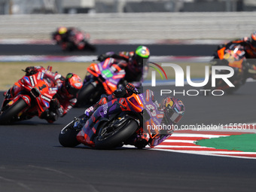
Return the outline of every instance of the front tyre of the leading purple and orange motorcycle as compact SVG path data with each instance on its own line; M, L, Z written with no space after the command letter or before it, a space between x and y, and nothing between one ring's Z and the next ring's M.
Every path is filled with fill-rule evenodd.
M94 140L95 147L99 149L115 148L130 138L138 129L136 120L129 118L120 124L118 127L110 125L111 122L103 123L99 134Z

